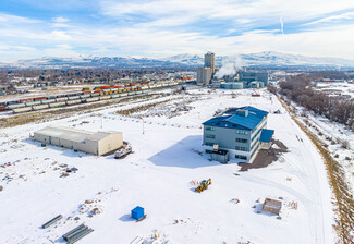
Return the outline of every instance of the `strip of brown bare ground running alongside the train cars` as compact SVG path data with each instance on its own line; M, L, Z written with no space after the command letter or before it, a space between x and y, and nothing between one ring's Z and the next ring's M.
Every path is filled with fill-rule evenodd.
M118 105L122 102L129 102L134 100L146 99L146 98L156 99L161 96L162 95L142 95L142 96L121 98L121 99L105 100L105 101L94 102L94 103L86 103L81 106L63 107L53 110L41 110L36 112L21 113L8 118L0 118L0 127L1 129L13 127L16 125L22 125L22 124L27 124L33 122L46 122L54 119L63 119L75 114L94 112L96 109L108 107L111 105Z

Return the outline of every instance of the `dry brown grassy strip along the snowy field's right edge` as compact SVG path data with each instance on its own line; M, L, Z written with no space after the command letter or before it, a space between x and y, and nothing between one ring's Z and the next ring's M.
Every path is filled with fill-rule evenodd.
M304 123L296 119L293 110L278 97L281 105L286 109L295 123L305 132L313 144L322 156L326 164L329 183L333 192L333 205L335 211L335 223L333 228L338 235L338 243L354 243L354 198L350 185L345 179L343 167L333 159L330 151L324 147L324 143L312 133Z

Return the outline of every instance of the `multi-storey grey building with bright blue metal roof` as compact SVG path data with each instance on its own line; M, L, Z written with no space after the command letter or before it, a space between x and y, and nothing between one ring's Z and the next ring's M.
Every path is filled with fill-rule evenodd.
M268 112L247 106L225 110L203 123L203 145L211 159L252 162L259 148L268 149L273 130L267 130Z

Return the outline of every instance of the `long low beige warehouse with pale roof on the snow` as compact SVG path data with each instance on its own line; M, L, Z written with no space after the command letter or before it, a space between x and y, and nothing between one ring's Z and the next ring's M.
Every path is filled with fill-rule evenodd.
M105 155L123 145L121 132L88 132L62 126L41 129L35 132L34 138L41 143L93 155Z

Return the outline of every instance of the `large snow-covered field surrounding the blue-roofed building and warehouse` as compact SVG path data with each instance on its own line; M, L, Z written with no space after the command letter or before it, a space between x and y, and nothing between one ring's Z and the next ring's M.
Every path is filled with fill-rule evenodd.
M241 90L232 98L227 91L195 90L193 95L202 99L179 117L154 117L147 111L144 134L142 120L113 113L124 109L118 106L2 129L0 243L63 243L61 235L81 223L95 231L78 243L143 242L155 233L159 237L154 243L334 243L331 191L320 155L274 97L266 90L261 97L251 93ZM232 161L209 161L200 154L202 122L217 109L248 105L270 112L268 127L276 130L274 138L289 152L268 168L246 172ZM281 114L271 113L278 109ZM28 138L48 125L121 131L134 154L117 160L46 148ZM62 164L78 171L60 178ZM211 186L195 193L191 181L209 178ZM281 219L257 213L266 197L280 197ZM292 202L297 209L291 208ZM142 222L130 218L137 205L147 215ZM90 216L94 208L100 213ZM58 224L40 228L59 213L64 218Z

